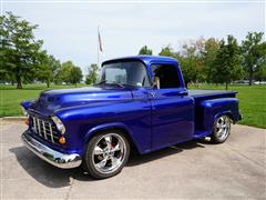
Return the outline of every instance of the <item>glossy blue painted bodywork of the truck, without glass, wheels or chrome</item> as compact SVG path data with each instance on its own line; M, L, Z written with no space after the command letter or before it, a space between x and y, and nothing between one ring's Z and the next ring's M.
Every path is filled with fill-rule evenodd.
M127 57L103 62L137 60L144 63L152 82L153 63L172 64L180 79L178 88L102 86L48 90L37 101L23 101L27 110L44 120L59 117L65 126L64 146L53 144L29 131L40 142L64 153L84 153L88 140L99 131L122 129L141 153L201 138L212 132L214 120L229 114L239 120L236 92L187 90L175 59L167 57Z

